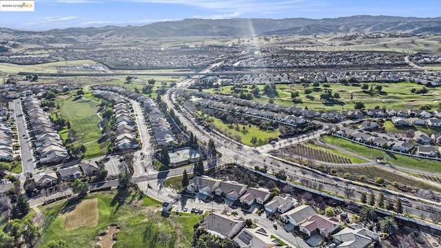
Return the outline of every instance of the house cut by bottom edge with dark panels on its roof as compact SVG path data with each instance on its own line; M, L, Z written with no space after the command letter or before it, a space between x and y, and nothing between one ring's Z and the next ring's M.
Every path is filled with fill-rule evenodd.
M233 241L240 248L271 248L278 245L278 242L274 242L271 238L271 233L262 227L242 229Z

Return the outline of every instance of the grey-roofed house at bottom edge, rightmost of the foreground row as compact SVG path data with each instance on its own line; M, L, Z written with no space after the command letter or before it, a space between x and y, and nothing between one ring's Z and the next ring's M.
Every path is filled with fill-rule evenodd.
M338 248L365 248L372 242L378 241L380 235L373 231L360 227L358 224L350 225L333 236Z

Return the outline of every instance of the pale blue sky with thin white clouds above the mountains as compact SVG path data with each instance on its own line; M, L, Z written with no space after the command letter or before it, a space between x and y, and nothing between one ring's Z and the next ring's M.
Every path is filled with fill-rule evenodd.
M35 0L34 12L0 12L0 27L20 30L145 25L188 18L440 17L439 0Z

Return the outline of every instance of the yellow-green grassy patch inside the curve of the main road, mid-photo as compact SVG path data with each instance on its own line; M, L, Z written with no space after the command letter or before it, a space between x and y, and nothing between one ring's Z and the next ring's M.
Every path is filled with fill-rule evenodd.
M265 145L268 143L269 140L274 139L274 138L278 138L278 136L280 134L280 132L278 132L278 131L260 130L260 128L255 125L251 125L251 127L249 127L247 125L247 126L245 126L245 129L243 129L243 125L238 125L238 128L236 128L236 124L233 124L232 126L230 126L228 123L224 123L219 118L209 117L209 119L212 119L213 125L216 126L218 128L218 130L222 131L224 134L226 134L232 138L235 138L236 136L240 136L240 138L241 138L240 141L242 143L244 143L246 145L250 145L250 146L253 145L251 143L251 138L253 136L256 136L258 139L260 138L263 141L262 143L256 144L256 145Z

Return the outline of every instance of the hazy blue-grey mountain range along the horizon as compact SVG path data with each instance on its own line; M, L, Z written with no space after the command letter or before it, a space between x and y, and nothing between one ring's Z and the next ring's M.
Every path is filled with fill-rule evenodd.
M41 42L101 41L152 37L244 37L251 35L332 34L346 32L441 33L441 17L389 17L358 15L334 19L184 19L142 26L68 28L41 32L0 28L0 39L23 42L40 37ZM45 37L45 40L43 39Z

